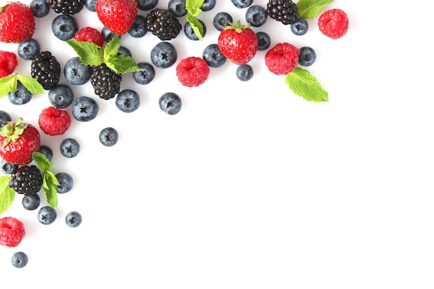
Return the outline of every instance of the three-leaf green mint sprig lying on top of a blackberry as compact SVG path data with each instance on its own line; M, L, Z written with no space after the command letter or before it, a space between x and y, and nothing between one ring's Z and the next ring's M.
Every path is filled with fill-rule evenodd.
M67 40L67 44L76 51L80 61L91 67L103 63L118 74L143 71L130 56L118 55L121 42L119 35L113 37L104 48L92 42L80 42L74 39Z

